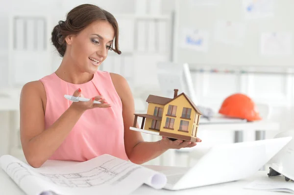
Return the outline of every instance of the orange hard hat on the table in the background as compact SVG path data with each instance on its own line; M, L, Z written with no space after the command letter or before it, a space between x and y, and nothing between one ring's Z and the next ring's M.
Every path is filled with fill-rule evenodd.
M227 97L222 102L219 113L232 118L246 119L247 121L262 119L256 110L254 102L242 93L235 93Z

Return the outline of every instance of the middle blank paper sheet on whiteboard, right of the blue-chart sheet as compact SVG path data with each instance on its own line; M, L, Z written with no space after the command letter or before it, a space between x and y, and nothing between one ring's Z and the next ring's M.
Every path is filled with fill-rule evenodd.
M245 25L241 22L219 20L216 22L214 37L219 43L242 46L245 39Z

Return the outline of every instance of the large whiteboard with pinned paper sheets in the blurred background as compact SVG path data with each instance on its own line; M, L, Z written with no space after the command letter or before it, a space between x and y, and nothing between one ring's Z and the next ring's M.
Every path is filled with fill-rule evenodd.
M176 0L175 2L173 29L175 63L294 65L293 0ZM262 14L249 12L250 2L260 3L258 6L254 5ZM187 38L189 33L196 34L193 41ZM200 41L196 40L196 36L201 37L202 40L200 38ZM233 42L227 39L233 39ZM202 45L197 47L197 44Z

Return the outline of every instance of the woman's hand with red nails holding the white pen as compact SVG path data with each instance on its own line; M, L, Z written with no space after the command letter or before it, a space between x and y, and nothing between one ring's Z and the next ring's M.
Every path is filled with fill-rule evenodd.
M76 89L73 93L73 96L75 97L83 97L82 91L80 88ZM101 104L94 104L94 100L101 102ZM73 108L77 111L85 111L87 109L92 108L108 108L111 107L110 104L106 102L106 100L102 96L95 96L91 98L88 102L73 102L70 108Z

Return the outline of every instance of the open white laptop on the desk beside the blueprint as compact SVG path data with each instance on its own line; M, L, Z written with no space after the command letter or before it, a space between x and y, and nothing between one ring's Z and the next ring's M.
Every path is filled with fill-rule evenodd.
M260 170L292 137L223 144L212 147L191 168L167 175L168 190L237 181Z

